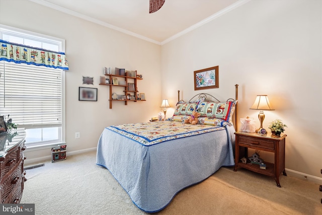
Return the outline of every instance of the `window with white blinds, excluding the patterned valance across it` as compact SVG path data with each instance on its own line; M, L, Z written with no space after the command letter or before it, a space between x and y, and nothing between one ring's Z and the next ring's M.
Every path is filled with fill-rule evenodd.
M5 41L63 52L64 40L0 26ZM26 128L26 145L64 141L64 70L0 61L0 114Z

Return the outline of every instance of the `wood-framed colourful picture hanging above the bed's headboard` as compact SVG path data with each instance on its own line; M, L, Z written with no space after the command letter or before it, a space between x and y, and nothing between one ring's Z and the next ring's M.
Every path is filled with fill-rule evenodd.
M219 88L219 66L194 71L195 90Z

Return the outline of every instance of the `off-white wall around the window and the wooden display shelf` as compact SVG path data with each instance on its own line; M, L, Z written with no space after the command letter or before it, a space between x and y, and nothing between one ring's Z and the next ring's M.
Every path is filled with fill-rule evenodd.
M148 121L162 108L160 46L118 31L63 14L30 1L1 1L0 23L66 40L66 142L70 152L95 148L104 127L112 124ZM99 85L103 67L137 70L143 75L138 90L146 102L113 102L109 109L109 88ZM94 77L94 85L83 85L83 76ZM98 101L78 101L78 87L98 88ZM117 88L113 88L117 89ZM124 88L119 88L123 93ZM75 138L75 132L81 138ZM26 150L26 163L47 156L51 148Z

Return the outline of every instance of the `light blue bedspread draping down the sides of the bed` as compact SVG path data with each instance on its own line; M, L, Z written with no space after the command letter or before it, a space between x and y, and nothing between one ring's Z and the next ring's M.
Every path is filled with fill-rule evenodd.
M113 174L140 209L156 212L185 187L221 166L233 166L234 142L232 126L149 146L107 127L98 142L97 164Z

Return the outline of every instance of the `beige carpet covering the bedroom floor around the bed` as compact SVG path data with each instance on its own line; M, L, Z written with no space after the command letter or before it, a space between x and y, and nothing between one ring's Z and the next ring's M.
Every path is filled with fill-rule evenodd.
M96 152L69 156L27 170L21 203L36 214L147 214L137 208ZM179 192L154 214L322 214L318 184L291 176L273 178L248 170L221 168L205 181Z

